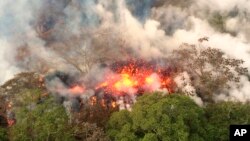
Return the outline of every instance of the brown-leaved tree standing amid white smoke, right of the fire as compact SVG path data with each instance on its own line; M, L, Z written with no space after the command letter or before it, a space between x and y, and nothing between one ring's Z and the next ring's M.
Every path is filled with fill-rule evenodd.
M207 38L199 41L203 40ZM190 75L197 95L207 102L213 101L213 94L230 88L230 83L237 84L240 75L247 74L247 68L242 67L244 61L230 58L221 50L211 47L183 44L173 51L170 60L179 72L186 71Z

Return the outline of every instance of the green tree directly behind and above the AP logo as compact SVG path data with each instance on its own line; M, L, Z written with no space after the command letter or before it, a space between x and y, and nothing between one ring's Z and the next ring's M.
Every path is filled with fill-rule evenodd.
M208 141L227 141L231 124L250 124L250 104L220 102L207 105L205 111Z

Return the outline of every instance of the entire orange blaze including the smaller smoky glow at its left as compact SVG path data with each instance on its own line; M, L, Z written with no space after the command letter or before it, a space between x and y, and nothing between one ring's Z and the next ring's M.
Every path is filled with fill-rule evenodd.
M91 106L101 105L113 109L131 109L136 97L145 92L174 92L175 83L169 68L143 61L117 62L108 67L110 71L102 73L104 75L101 80L86 85L84 83L88 82L88 79L79 81L75 79L78 77L70 77L61 72L47 77L46 81L58 78L62 84L51 88L56 93L71 94L79 99L87 97Z

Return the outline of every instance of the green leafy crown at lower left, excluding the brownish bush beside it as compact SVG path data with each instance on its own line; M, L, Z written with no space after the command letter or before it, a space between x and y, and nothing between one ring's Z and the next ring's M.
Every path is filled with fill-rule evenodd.
M64 108L53 102L51 98L41 104L17 107L17 122L10 128L12 140L72 140L67 128L68 117Z

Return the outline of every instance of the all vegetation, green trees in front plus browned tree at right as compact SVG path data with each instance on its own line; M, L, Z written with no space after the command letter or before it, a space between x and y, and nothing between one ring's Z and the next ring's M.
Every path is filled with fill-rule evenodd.
M190 85L203 106L177 88L175 94L152 92L138 97L132 111L97 104L72 112L40 81L31 81L37 78L29 74L2 86L6 90L2 94L7 94L0 98L0 140L226 141L230 124L250 124L249 103L214 101L215 95L228 92L230 84L237 84L247 73L242 60L228 58L218 49L183 44L169 61L176 67L173 76L190 75ZM8 116L8 100L14 103L11 110L16 122L7 127L3 119Z

